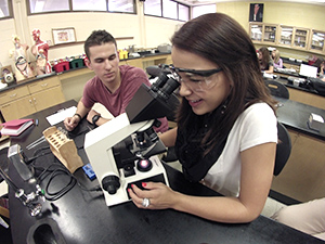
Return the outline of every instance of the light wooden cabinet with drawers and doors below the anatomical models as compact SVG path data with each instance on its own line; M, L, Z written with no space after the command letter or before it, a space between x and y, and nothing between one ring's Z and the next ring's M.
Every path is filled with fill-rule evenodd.
M5 120L28 116L65 101L57 76L32 81L0 93Z

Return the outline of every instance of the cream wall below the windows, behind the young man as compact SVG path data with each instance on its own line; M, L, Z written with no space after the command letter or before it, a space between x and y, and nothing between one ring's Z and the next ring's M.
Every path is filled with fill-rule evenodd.
M27 16L26 2L13 1L14 20L0 21L0 62L3 66L14 66L9 52L14 48L12 35L21 38L21 43L34 44L31 31L39 28L41 39L53 43L52 28L74 27L77 43L53 46L49 50L49 60L83 53L83 41L94 29L106 29L117 40L119 49L135 44L135 48L156 48L161 43L170 43L176 26L183 22L144 16L143 2L136 1L138 14L105 13L105 12L74 12L49 13ZM30 48L29 48L30 50ZM29 61L35 61L30 51Z

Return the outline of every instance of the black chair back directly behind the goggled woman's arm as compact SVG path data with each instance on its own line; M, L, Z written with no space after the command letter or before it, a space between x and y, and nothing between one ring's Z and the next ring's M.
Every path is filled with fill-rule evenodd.
M277 121L277 138L274 176L278 176L291 154L291 138L287 129Z

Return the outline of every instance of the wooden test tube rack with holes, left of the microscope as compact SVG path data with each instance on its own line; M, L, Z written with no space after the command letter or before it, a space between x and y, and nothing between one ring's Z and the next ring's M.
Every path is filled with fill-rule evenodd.
M75 142L68 139L64 132L52 126L43 131L43 136L49 142L52 153L72 174L83 166Z

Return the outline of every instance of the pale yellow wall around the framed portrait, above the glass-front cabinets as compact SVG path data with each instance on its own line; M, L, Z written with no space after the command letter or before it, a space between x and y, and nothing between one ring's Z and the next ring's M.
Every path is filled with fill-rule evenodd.
M257 1L264 3L263 23L283 24L289 26L325 30L325 7L304 3ZM252 2L221 2L217 3L217 11L235 18L249 33L249 7ZM256 46L260 48L261 46ZM311 54L286 48L278 48L281 55L307 60Z

